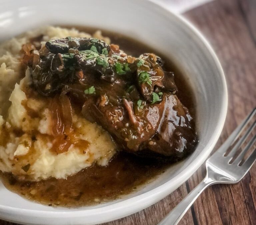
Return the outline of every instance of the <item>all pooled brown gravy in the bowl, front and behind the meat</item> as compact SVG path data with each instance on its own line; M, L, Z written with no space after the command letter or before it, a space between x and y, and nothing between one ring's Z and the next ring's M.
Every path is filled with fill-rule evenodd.
M78 28L92 33L93 29ZM155 50L119 34L103 32L111 42L133 56ZM156 52L157 53L157 52ZM195 119L195 105L191 88L182 73L161 54L165 70L173 71L178 87L177 96ZM117 199L136 191L163 173L171 162L136 157L125 152L117 153L108 166L93 165L65 179L50 178L39 182L18 181L11 174L0 173L4 185L29 200L49 206L79 207Z

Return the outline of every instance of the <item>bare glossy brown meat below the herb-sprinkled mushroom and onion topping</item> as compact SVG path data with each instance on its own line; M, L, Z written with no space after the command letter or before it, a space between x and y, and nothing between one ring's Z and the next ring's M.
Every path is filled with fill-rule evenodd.
M126 99L123 106L102 106L90 99L82 112L109 131L123 149L137 155L177 159L197 144L192 117L176 95L164 94L161 103L146 104L142 111L133 110L132 102Z

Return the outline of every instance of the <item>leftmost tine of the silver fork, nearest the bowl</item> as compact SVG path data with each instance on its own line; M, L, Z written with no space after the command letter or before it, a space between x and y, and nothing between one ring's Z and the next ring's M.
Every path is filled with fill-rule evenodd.
M232 132L232 134L227 138L227 140L221 145L221 147L216 151L216 153L226 153L229 146L231 146L239 137L243 129L250 122L253 116L256 114L256 108L243 120L243 122Z

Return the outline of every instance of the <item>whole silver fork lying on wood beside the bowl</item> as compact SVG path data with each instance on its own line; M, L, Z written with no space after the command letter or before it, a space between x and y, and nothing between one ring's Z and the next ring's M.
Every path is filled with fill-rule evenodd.
M178 224L198 196L210 185L235 184L245 176L256 160L256 148L253 149L245 162L242 163L242 165L240 164L246 152L254 145L256 134L248 141L239 155L236 158L234 158L234 156L249 135L252 134L256 126L256 120L253 119L255 114L256 108L248 115L242 124L233 131L223 145L206 161L206 177L158 225ZM249 122L252 122L252 124L239 139L239 136ZM227 150L233 144L234 147L227 154ZM232 159L234 160L233 162L231 162Z

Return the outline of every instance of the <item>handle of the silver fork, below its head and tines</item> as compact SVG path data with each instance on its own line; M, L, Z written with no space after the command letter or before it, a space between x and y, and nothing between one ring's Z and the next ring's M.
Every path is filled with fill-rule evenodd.
M217 181L205 177L158 225L178 224L203 190L214 183Z

